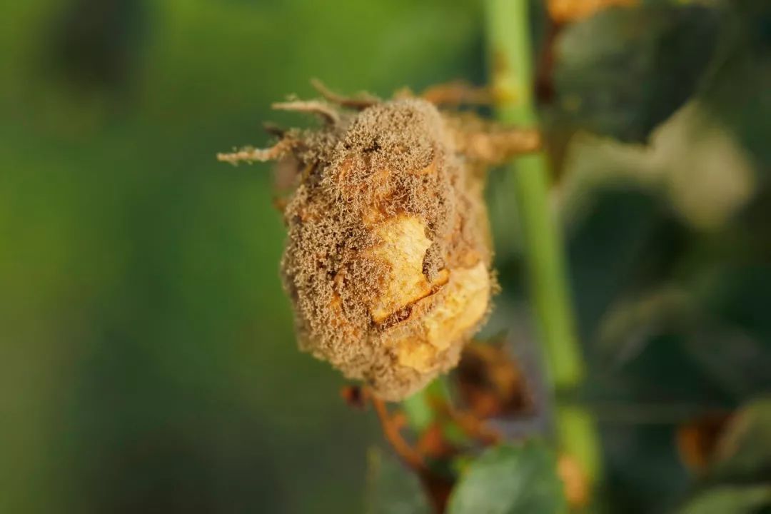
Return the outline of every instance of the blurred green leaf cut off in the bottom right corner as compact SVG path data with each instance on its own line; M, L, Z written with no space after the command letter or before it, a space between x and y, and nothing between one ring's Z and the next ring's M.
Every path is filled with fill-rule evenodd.
M716 487L692 499L678 514L753 514L771 505L771 485Z

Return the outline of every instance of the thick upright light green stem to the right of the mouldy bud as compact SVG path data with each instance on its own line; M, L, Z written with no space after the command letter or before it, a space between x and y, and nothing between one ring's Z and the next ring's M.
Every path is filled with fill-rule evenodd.
M500 121L536 126L528 0L487 0L486 32L491 85ZM548 199L549 164L544 153L518 158L507 177L517 202L527 257L530 296L557 397L584 381L584 360L568 293L564 250ZM557 401L557 439L591 482L599 478L598 436L591 415L579 405Z

